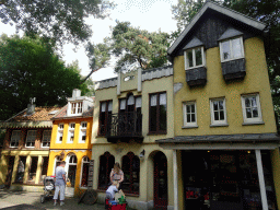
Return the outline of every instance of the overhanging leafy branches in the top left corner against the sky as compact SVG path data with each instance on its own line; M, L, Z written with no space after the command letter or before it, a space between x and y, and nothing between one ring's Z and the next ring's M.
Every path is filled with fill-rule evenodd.
M105 18L112 7L107 0L0 0L0 19L28 35L78 45L92 35L86 18Z

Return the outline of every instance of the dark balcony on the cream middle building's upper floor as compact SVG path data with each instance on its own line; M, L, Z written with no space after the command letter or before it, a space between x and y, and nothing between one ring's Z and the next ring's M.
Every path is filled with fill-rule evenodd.
M108 115L106 128L108 142L142 142L142 114L125 112Z

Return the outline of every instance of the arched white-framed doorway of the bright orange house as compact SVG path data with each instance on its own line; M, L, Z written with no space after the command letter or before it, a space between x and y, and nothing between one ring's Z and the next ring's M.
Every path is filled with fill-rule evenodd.
M69 197L73 197L74 184L75 184L75 172L77 172L77 156L74 154L68 155L66 172L67 172L66 195Z

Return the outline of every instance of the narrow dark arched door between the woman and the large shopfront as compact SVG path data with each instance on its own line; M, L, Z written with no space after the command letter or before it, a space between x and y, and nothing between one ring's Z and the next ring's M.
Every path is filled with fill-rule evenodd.
M154 163L154 208L167 209L167 159L164 153L158 152L153 158Z

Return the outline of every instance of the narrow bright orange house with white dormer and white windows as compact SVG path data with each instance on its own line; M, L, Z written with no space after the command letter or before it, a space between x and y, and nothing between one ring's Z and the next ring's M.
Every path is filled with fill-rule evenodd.
M81 96L73 90L72 97L52 118L49 147L48 176L55 175L60 161L66 161L66 196L80 196L89 185L90 159L92 155L91 128L94 98Z

